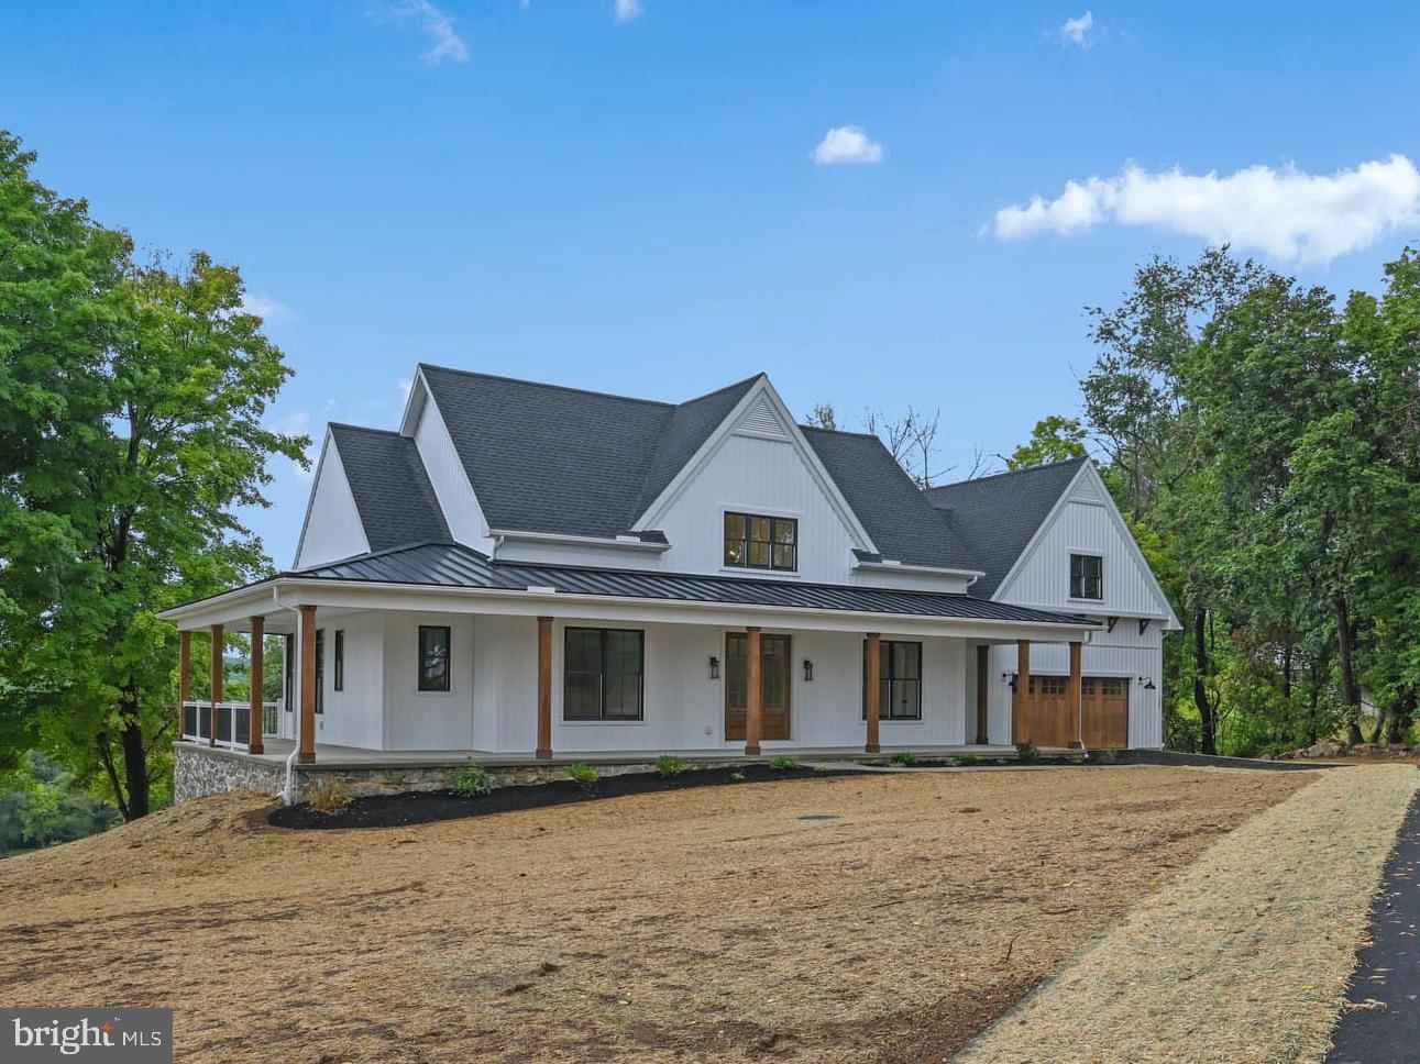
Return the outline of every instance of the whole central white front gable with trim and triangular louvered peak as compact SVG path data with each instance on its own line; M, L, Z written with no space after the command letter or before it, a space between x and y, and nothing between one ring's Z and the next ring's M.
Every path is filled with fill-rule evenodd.
M727 514L768 519L775 535L792 522L794 566L727 566ZM633 525L652 529L669 539L660 566L673 572L842 583L855 549L876 550L763 376Z

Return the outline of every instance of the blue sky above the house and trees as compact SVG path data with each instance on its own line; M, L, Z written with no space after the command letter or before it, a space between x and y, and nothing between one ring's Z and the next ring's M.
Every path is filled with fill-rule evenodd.
M763 369L799 416L940 407L950 465L1076 410L1082 308L1154 251L1345 292L1420 234L1420 6L1262 7L9 0L0 126L241 267L274 423L390 427L417 360L667 400ZM274 472L284 565L310 481Z

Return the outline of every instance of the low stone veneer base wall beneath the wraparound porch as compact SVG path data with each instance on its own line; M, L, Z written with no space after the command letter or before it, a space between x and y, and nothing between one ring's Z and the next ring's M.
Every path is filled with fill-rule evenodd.
M197 746L190 742L173 743L173 800L187 802L204 794L223 794L229 790L257 790L275 794L285 786L285 766L270 762L256 762L244 753L224 750L220 746ZM697 769L719 769L738 765L737 760L696 762ZM352 797L366 794L399 794L410 790L446 790L449 777L459 765L440 766L361 766L322 767L297 765L297 800L327 787L339 786ZM632 765L596 765L602 776L621 776L628 772L655 772L652 762ZM493 786L511 787L521 783L547 783L567 779L564 765L511 765L488 766Z

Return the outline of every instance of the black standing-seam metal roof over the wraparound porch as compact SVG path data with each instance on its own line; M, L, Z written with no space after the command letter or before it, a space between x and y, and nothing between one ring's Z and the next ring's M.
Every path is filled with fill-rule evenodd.
M537 586L552 587L564 594L601 594L619 599L846 610L1037 624L1095 624L1095 621L1074 613L1034 610L1025 606L1010 606L967 594L940 592L902 592L883 587L799 583L798 580L750 580L737 576L490 562L477 550L459 543L423 543L382 555L312 566L288 573L288 576L518 592Z

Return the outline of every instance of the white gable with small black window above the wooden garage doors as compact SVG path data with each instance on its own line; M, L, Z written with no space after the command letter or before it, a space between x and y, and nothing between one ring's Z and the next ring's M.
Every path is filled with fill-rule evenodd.
M1159 620L1167 596L1093 462L1083 462L993 596L997 602Z

